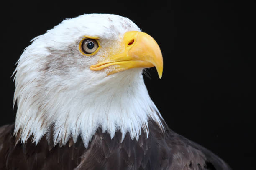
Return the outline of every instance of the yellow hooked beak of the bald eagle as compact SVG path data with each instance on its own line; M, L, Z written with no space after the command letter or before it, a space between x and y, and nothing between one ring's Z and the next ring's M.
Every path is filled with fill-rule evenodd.
M156 67L159 78L163 73L163 57L156 41L148 34L138 31L128 31L123 37L125 50L121 54L109 56L105 61L91 65L91 70L102 70L114 65L108 75L130 68Z

